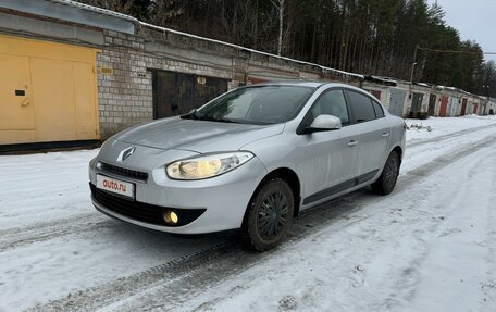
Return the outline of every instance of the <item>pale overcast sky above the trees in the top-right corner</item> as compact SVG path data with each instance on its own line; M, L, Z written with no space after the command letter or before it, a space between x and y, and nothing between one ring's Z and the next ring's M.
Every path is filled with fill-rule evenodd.
M430 4L435 0L427 0ZM484 52L496 52L496 0L437 0L446 23L458 29L462 40L475 40ZM496 61L496 55L484 55Z

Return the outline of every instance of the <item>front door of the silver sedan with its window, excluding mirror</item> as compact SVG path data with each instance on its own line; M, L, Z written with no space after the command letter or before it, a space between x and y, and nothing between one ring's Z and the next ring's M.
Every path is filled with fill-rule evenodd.
M303 123L321 114L342 120L343 127L335 130L299 135L295 141L295 159L306 195L303 204L333 196L355 186L358 166L358 127L349 124L349 114L343 90L331 89L323 93L309 110Z

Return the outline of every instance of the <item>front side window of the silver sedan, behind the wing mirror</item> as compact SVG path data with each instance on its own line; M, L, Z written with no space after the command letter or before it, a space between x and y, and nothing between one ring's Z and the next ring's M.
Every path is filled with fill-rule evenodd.
M319 115L333 115L342 120L342 124L349 123L348 109L346 107L343 90L330 90L319 98L311 109L313 118Z

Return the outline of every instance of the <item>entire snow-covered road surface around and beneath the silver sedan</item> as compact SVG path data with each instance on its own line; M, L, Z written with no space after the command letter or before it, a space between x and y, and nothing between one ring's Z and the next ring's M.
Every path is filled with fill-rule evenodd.
M0 157L0 311L495 311L496 118L422 123L390 196L305 212L262 254L96 212L97 151Z

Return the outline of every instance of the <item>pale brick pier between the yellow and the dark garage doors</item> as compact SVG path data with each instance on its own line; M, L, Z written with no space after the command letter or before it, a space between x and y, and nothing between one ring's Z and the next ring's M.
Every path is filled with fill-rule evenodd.
M104 35L106 48L97 53L101 138L153 115L144 39L115 32Z

